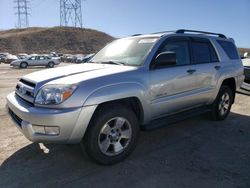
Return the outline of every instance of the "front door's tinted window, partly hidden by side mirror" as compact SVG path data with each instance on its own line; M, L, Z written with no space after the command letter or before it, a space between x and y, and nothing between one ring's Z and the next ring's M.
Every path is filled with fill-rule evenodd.
M161 50L161 52L175 52L177 65L190 64L189 48L187 41L171 41L168 42Z

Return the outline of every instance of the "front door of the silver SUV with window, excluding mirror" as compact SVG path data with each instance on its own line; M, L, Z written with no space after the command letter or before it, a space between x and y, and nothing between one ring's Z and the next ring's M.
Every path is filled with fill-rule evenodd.
M189 46L189 38L174 37L167 39L158 50L157 54L175 52L177 62L175 66L150 70L152 118L193 107L195 77Z

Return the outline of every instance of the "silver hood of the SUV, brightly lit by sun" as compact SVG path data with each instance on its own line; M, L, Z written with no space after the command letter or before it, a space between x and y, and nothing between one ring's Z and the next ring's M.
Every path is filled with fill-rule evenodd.
M132 66L85 63L38 71L25 75L23 78L35 83L59 81L73 84L95 77L135 70L136 68Z

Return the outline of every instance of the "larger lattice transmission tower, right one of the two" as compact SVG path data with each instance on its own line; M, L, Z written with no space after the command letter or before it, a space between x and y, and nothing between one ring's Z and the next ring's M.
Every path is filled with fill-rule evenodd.
M60 0L60 25L82 28L81 0Z

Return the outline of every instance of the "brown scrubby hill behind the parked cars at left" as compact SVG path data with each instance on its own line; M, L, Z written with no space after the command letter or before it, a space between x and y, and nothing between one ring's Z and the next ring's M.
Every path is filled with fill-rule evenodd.
M100 31L72 27L11 29L0 31L0 52L93 53L113 39Z

